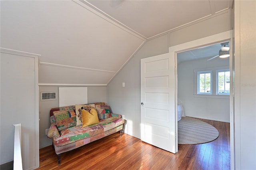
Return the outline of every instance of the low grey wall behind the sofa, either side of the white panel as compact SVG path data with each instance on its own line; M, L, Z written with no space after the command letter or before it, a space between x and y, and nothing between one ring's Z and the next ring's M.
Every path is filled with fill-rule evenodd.
M59 86L39 86L39 148L52 144L52 139L47 138L45 130L50 127L50 109L59 107ZM56 100L40 101L41 92L56 92ZM88 103L106 102L106 86L88 86ZM82 104L82 103L77 103ZM85 103L84 103L85 104ZM110 105L111 107L111 105Z

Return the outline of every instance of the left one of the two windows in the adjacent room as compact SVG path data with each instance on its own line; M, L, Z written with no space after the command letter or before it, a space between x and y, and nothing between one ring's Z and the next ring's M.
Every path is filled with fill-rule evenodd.
M198 71L197 94L212 94L212 71Z

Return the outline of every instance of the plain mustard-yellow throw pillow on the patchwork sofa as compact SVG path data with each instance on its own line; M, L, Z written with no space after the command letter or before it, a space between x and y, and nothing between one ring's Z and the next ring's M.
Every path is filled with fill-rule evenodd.
M91 109L90 113L82 109L82 127L88 127L99 122L98 113L95 109Z

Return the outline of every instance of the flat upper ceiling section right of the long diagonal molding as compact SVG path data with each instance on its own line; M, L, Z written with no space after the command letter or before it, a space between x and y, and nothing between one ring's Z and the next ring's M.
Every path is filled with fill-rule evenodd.
M232 0L87 0L86 2L144 38L154 37L232 7Z

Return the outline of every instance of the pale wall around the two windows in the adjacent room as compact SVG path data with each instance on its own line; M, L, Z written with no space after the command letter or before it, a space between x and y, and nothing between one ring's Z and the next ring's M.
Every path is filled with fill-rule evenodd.
M182 100L185 116L230 122L229 96L219 96L213 88L213 95L196 95L194 92L194 70L223 67L229 68L229 58L215 58L207 61L198 59L178 64L178 98ZM210 70L210 69L209 69ZM215 71L213 71L215 72ZM216 77L213 77L213 83ZM215 86L214 86L215 87Z

